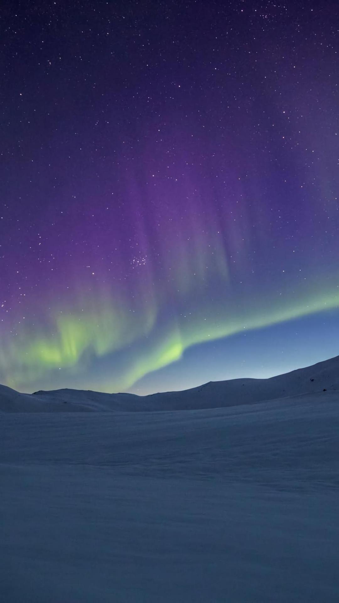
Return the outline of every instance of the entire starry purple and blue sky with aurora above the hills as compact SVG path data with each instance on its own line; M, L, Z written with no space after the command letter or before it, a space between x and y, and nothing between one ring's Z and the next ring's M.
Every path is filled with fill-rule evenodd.
M147 394L338 355L337 2L1 12L0 382Z

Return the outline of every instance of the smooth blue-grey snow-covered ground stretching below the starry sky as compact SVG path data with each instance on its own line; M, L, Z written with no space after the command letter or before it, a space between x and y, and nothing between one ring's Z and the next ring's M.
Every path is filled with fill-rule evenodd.
M224 408L197 388L177 411L2 412L0 600L337 603L338 364L264 402L208 384Z

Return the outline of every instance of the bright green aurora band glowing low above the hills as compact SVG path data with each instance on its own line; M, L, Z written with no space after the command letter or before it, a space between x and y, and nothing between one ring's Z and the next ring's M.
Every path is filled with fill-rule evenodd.
M320 291L319 291L320 289ZM294 289L296 291L296 288ZM91 308L73 312L55 312L49 317L49 329L39 333L21 324L16 336L7 339L0 352L7 385L56 382L59 371L73 382L90 388L87 369L93 359L106 359L106 378L95 388L101 391L125 391L145 375L182 358L185 350L214 339L227 338L244 330L256 330L284 321L339 307L339 288L323 292L315 286L303 287L299 296L285 291L274 298L266 295L247 304L227 307L222 301L198 305L187 314L167 312L162 320L153 305L141 312L127 303L112 299ZM293 300L293 302L292 302ZM133 345L132 345L133 344Z

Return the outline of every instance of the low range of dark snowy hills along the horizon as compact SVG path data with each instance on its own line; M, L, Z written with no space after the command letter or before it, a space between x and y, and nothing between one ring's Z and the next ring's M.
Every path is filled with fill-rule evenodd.
M339 356L270 379L209 382L191 390L136 396L95 391L55 390L19 394L0 386L0 411L171 411L224 408L300 394L339 390Z

